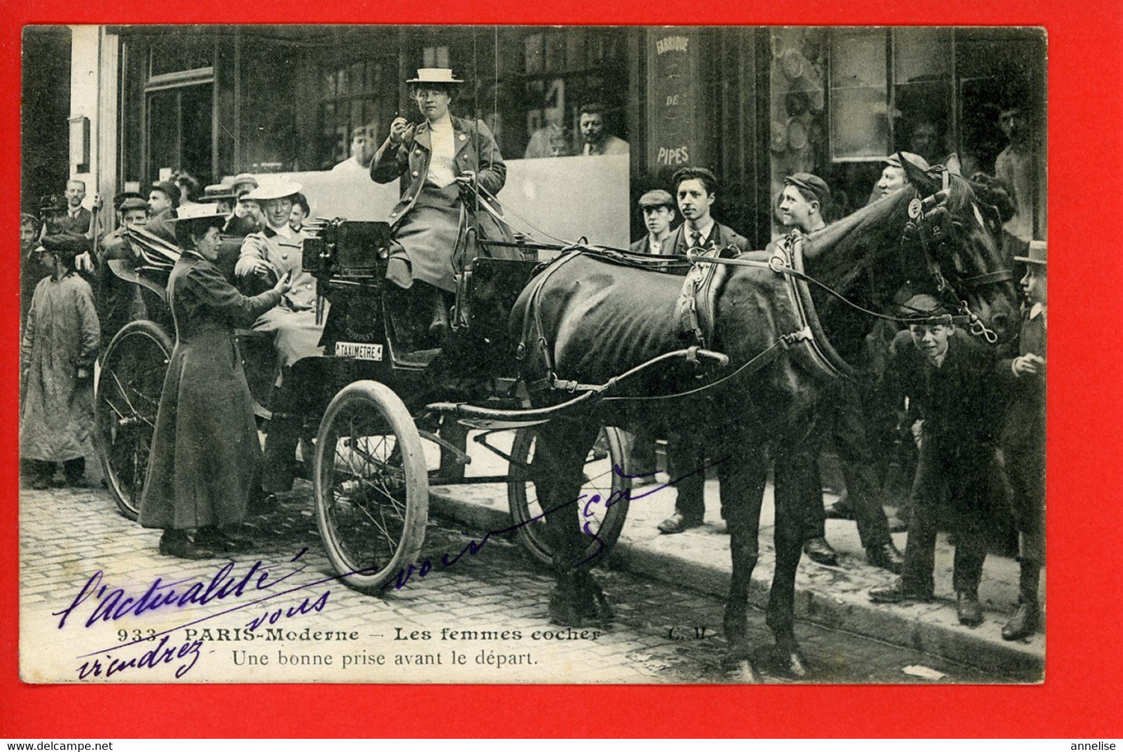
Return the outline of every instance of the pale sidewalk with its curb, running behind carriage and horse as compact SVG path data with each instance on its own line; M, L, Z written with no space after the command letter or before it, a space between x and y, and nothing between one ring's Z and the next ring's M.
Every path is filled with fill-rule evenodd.
M506 434L490 440L504 446ZM472 464L467 475L504 474L506 462L469 440ZM505 448L505 447L504 447ZM660 474L660 479L665 476ZM642 486L637 494L655 486ZM760 561L752 574L752 604L767 603L773 577L773 487L765 490L760 520ZM827 503L836 498L827 495ZM620 541L606 565L636 575L672 583L705 594L724 597L730 575L729 538L718 512L718 483L706 482L706 524L678 535L663 535L659 521L674 510L674 488L663 488L631 503ZM436 486L430 490L430 512L477 530L500 530L511 524L506 486ZM996 671L1011 678L1035 681L1043 678L1044 635L1006 642L1001 630L1017 603L1017 562L990 554L984 569L979 600L985 621L975 629L959 624L951 588L953 548L941 533L935 552L935 594L931 604L875 605L869 588L886 584L893 575L866 565L857 525L844 520L827 521L827 539L839 552L839 567L824 567L806 557L796 579L796 617L853 632L891 644L940 655L967 666ZM895 533L902 551L905 533ZM1044 583L1042 578L1042 591ZM763 620L763 614L758 615Z

